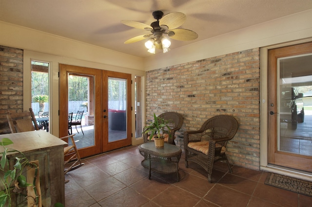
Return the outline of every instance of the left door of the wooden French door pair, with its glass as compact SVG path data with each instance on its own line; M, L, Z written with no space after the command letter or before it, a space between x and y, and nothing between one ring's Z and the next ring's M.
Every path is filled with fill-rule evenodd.
M75 134L81 157L101 153L101 70L60 64L59 74L59 136Z

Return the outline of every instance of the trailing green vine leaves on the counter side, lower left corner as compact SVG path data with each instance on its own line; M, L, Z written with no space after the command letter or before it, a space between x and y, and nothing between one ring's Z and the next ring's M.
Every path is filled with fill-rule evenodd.
M3 177L0 176L0 181L4 189L0 191L0 207L3 207L6 203L8 203L9 207L11 207L11 194L21 193L26 187L34 186L36 182L36 178L34 178L34 184L27 183L26 177L22 175L22 173L26 166L36 168L36 170L38 166L34 163L30 163L22 152L5 147L10 144L13 144L11 139L1 139L0 145L3 146L4 151L0 153L0 155L2 155L0 160L0 170L4 173L4 175ZM13 166L13 169L10 170L7 155L12 152L19 153L20 157L15 157L15 165ZM36 192L36 188L34 188L34 190ZM34 198L34 200L35 199L37 198Z

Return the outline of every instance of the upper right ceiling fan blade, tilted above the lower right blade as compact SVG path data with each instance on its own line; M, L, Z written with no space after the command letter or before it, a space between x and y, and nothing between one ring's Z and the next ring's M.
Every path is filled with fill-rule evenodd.
M181 12L172 12L159 19L159 25L166 25L171 30L181 26L185 19L185 14Z

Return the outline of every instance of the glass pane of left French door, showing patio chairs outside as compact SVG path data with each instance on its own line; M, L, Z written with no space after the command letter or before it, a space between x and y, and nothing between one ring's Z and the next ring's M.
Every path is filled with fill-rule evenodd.
M94 76L68 73L68 133L78 149L94 146Z

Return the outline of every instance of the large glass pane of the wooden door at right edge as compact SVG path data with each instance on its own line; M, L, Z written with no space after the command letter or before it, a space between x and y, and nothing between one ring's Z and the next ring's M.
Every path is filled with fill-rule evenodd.
M277 150L312 155L312 54L277 60Z

